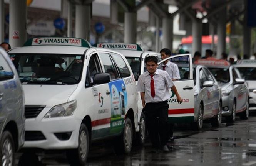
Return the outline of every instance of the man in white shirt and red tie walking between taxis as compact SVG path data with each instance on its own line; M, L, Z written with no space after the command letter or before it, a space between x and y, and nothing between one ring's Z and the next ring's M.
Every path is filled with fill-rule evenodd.
M154 148L161 146L162 150L169 151L168 140L168 108L167 99L170 97L169 88L182 102L171 77L166 71L157 69L156 56L145 58L147 71L138 79L137 90L141 92L142 106L146 113L149 136ZM160 142L159 142L160 136Z

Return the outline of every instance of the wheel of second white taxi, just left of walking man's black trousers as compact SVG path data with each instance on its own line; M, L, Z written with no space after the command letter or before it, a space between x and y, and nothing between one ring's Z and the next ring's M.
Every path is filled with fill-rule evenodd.
M136 133L136 142L135 142L135 144L136 145L143 145L145 143L146 133L147 133L146 116L145 116L144 112L141 113L139 128L140 128L139 132Z

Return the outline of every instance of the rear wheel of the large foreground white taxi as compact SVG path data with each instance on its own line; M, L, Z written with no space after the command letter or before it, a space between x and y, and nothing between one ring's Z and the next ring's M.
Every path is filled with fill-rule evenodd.
M117 154L128 154L132 149L133 138L132 122L129 118L125 119L122 135L114 143L114 150Z

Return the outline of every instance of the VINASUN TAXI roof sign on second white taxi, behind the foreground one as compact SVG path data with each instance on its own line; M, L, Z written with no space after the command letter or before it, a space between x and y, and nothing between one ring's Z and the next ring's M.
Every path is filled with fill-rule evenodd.
M132 43L96 43L95 47L108 48L108 49L126 49L134 51L143 51L138 44Z

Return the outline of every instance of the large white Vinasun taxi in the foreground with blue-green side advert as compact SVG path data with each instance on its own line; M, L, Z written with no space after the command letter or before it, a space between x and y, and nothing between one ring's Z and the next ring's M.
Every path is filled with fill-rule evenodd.
M8 52L25 92L25 148L67 150L84 165L91 141L129 153L137 128L132 70L117 51L79 38L33 38Z

